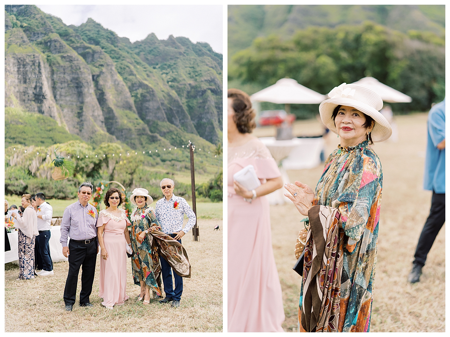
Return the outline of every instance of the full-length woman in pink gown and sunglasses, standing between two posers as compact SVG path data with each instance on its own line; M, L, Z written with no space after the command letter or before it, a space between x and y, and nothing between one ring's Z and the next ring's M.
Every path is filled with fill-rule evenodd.
M112 309L123 305L126 295L126 245L131 245L125 209L117 209L121 204L121 191L110 188L104 199L107 209L101 210L97 219L97 234L101 249L99 295L102 305Z

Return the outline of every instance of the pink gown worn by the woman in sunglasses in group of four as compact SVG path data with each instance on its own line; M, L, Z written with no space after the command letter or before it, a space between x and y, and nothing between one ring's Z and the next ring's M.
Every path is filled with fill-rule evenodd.
M103 226L103 242L108 252L107 260L100 258L100 284L99 295L103 298L102 304L113 306L122 305L128 300L126 295L126 241L125 228L130 225L125 210L117 217L101 210L97 219L97 227Z

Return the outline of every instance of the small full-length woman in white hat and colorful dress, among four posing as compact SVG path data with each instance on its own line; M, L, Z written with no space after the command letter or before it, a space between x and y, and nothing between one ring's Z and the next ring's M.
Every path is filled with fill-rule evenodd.
M157 299L162 295L162 288L157 246L152 245L152 237L147 234L150 231L159 231L161 227L153 208L148 206L152 204L153 198L148 195L145 188L133 190L130 201L137 206L131 213L131 247L133 249L131 266L134 282L141 287L137 301L149 304L150 299Z

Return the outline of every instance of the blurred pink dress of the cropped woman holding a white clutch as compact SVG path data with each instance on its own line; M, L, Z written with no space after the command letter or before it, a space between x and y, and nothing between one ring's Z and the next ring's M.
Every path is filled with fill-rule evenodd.
M281 176L260 140L228 148L228 332L283 332L269 201L261 196L248 203L233 187L233 174L249 164L261 184Z

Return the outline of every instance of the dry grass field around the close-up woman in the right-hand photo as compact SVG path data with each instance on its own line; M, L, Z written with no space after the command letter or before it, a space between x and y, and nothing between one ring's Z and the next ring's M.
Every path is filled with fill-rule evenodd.
M424 191L423 167L427 140L427 114L396 116L399 141L375 143L383 165L383 196L378 236L371 332L445 332L445 225L439 232L420 282L410 284L414 250L428 217L431 191ZM320 132L314 120L297 122L294 132ZM317 131L317 132L316 132ZM258 136L273 136L270 128ZM336 148L337 136L326 140L327 155ZM323 167L288 171L291 182L315 185ZM283 289L285 331L297 330L301 277L292 270L294 245L303 218L293 204L271 206L272 242Z

